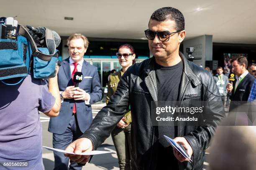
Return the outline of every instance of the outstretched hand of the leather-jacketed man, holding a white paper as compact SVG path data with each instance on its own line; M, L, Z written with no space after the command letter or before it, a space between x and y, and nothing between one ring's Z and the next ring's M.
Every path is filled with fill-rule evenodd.
M92 141L88 138L80 138L71 143L65 150L76 154L81 154L85 151L92 151ZM69 153L64 153L64 155L69 157L70 160L81 164L87 163L90 160L90 155L73 155Z

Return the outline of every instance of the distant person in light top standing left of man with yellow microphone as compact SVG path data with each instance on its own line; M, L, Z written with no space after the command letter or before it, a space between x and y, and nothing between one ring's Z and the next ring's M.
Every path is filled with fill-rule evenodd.
M217 71L217 74L214 76L214 80L219 89L223 105L225 105L225 102L227 100L227 92L228 92L226 89L226 86L228 85L228 77L223 75L222 67L218 67L216 71Z

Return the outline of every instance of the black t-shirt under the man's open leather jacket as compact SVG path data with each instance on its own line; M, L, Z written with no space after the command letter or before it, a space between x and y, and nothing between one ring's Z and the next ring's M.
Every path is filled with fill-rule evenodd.
M164 67L155 62L156 70L156 84L158 91L158 101L177 101L179 94L179 86L183 70L183 62L178 64ZM171 167L178 166L178 160L173 155L172 146L166 141L163 135L170 138L175 137L175 128L173 122L166 122L168 126L158 126L159 128L159 150L158 150L158 165L164 163L165 160L172 161ZM176 134L177 135L177 134ZM165 162L166 163L166 162Z

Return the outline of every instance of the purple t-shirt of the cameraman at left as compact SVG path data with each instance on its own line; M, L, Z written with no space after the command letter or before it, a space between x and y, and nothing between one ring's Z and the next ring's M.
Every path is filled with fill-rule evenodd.
M18 85L0 82L0 162L28 161L24 169L44 169L38 110L48 112L54 102L45 82L31 75Z

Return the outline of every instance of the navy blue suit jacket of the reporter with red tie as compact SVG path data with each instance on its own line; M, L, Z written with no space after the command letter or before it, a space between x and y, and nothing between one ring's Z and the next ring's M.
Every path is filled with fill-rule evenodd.
M83 80L79 83L79 88L90 94L90 104L102 99L100 77L97 67L84 61L82 65ZM85 78L84 78L85 77ZM61 62L58 72L59 90L64 91L66 87L74 85L72 81L69 58ZM51 117L49 122L49 132L63 134L69 125L72 117L74 102L76 102L77 121L80 130L84 133L92 123L92 107L85 105L84 100L64 99L61 103L59 116Z

